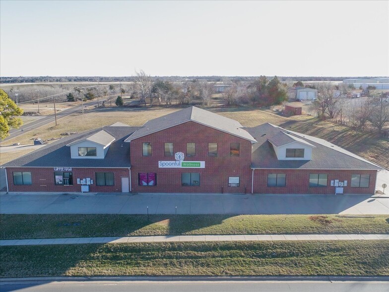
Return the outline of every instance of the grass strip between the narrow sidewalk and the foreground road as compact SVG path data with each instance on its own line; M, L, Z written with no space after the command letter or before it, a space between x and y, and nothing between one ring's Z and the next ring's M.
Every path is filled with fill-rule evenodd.
M388 240L3 246L0 277L388 276Z

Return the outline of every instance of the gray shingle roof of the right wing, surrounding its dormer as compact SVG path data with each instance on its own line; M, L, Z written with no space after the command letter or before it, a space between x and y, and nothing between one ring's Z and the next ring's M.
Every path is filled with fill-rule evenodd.
M380 166L351 153L339 146L335 146L323 139L287 131L269 123L244 128L258 141L252 148L253 168L284 168L284 169L381 169ZM316 148L312 150L311 160L278 160L273 146L268 140L280 132L301 139Z

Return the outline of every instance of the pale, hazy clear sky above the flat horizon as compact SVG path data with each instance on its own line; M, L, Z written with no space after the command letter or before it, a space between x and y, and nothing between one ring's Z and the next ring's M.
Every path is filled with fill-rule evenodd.
M0 1L1 76L388 76L389 1Z

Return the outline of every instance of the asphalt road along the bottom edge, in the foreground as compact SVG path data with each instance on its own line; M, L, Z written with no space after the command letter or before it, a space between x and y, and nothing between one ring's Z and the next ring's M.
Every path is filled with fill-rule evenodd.
M0 284L1 292L389 292L389 282L329 281L69 281Z

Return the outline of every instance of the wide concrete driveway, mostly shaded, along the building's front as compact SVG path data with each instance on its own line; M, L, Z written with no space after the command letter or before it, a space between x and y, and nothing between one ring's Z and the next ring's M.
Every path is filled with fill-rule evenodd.
M384 214L384 195L1 194L3 214Z

